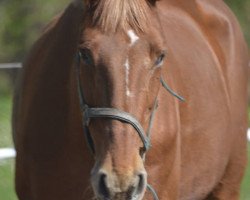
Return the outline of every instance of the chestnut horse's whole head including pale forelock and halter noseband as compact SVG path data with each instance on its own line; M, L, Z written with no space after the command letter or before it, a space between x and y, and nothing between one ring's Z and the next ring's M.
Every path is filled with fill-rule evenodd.
M146 0L85 2L78 87L98 199L142 199L147 186L145 132L166 54L154 5Z

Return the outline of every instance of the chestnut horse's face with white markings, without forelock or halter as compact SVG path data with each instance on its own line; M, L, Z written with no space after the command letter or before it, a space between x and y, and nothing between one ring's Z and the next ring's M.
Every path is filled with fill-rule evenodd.
M144 32L132 28L103 32L84 28L81 82L91 107L116 108L135 116L144 130L157 98L165 46L157 23ZM129 124L93 119L95 146L91 182L98 199L142 199L147 185L143 143Z

